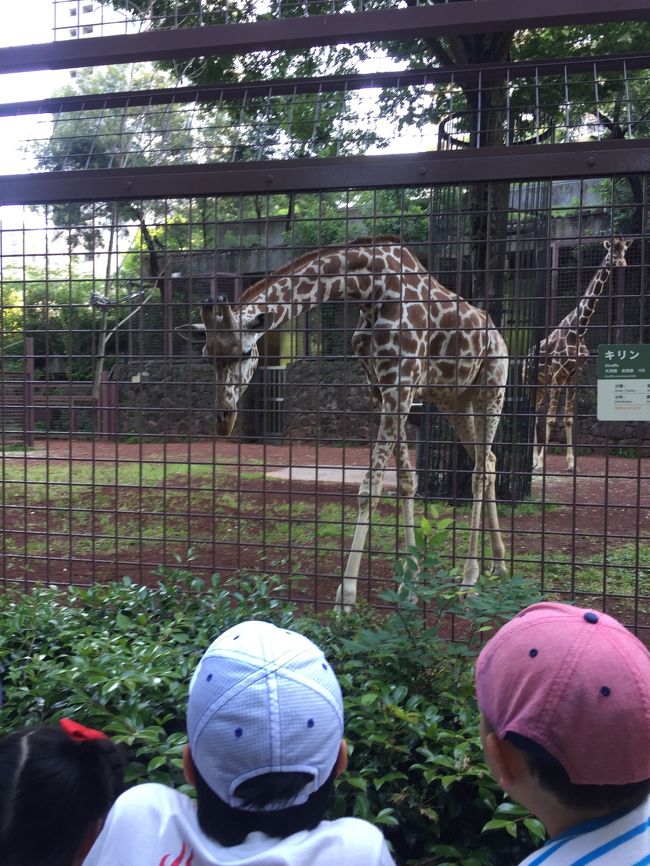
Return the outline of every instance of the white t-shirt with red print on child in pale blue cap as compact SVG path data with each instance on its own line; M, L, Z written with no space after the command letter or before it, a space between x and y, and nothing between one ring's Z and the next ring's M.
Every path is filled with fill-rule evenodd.
M250 833L225 848L196 807L165 785L131 788L111 809L83 866L395 866L381 831L359 818L322 821L286 839Z

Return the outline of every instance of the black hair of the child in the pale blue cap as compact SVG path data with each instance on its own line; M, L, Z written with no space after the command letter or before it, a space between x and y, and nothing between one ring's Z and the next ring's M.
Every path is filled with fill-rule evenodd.
M217 796L194 765L197 815L201 830L227 848L240 845L249 833L259 831L285 839L300 830L313 830L323 820L329 803L336 765L327 781L300 806L273 811L236 809ZM265 773L243 782L235 791L252 809L269 803L290 802L311 780L308 773Z

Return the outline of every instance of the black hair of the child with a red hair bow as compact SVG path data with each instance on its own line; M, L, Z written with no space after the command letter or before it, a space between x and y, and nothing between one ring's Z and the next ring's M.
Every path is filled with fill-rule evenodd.
M57 727L0 739L2 866L71 866L123 786L126 751Z

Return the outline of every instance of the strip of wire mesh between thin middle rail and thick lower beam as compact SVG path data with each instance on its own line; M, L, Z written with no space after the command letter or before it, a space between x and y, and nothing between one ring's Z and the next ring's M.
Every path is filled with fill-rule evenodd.
M42 172L570 148L646 139L649 77L648 55L191 88L143 71L125 92L7 103L0 132L27 135L24 170Z

